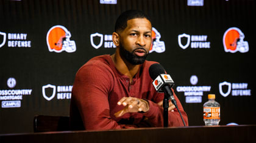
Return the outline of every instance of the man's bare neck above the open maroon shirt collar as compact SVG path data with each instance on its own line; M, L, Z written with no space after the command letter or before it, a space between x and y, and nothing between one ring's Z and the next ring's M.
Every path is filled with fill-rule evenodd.
M138 73L140 65L133 65L130 62L126 61L126 59L122 59L118 53L111 55L111 58L115 64L116 69L123 75L126 75L130 78L130 82L132 82L133 76Z

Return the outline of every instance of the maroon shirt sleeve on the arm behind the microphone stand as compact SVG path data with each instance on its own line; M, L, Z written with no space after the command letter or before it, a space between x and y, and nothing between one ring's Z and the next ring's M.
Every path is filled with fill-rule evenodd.
M172 92L174 93L173 89L172 89ZM183 117L185 124L188 125L188 116L186 112L183 110L182 104L180 104L180 101L177 98L175 93L174 93L174 98L176 99L177 106L180 110L180 113ZM148 101L148 102L149 102L149 111L147 111L146 113L143 113L143 115L148 118L148 121L146 122L148 122L152 127L163 127L163 107L160 107L158 104L156 104L153 101ZM184 126L177 108L174 108L174 111L168 111L168 126L169 127Z

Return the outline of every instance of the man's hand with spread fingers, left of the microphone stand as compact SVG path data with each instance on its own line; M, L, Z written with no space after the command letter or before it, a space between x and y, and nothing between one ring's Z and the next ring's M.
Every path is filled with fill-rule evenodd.
M117 104L123 105L124 108L115 113L116 117L123 116L125 113L134 113L138 111L146 112L149 110L148 101L140 98L123 97Z

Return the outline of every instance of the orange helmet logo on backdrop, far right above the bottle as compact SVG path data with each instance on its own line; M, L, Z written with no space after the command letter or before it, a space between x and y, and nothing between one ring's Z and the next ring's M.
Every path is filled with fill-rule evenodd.
M247 41L244 41L244 33L239 28L231 27L224 33L223 45L225 52L241 52L249 51Z

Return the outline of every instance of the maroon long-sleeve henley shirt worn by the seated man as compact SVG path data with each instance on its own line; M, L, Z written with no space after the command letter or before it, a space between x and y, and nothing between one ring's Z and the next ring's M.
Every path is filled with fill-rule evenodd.
M163 127L163 108L157 103L163 100L163 93L157 93L152 86L149 67L156 62L145 61L130 83L129 77L120 73L110 55L96 56L77 71L74 80L70 119L73 130L108 130L115 128ZM126 113L116 118L122 110L117 102L123 97L146 99L149 111ZM187 114L174 93L180 112L188 125ZM169 111L169 126L183 126L179 112Z

